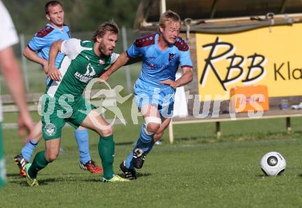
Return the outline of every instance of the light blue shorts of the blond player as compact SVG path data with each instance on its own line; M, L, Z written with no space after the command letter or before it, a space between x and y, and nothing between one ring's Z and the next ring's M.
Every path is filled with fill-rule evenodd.
M162 117L172 117L175 89L171 86L159 88L137 80L134 86L134 93L139 111L141 111L141 106L152 104L157 107Z

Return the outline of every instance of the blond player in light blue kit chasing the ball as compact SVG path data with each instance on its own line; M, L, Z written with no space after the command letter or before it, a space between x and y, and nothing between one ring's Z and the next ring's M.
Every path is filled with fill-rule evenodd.
M137 145L119 166L128 179L136 178L135 168L143 167L146 155L154 142L163 136L169 126L174 94L178 86L184 86L193 79L189 46L178 37L181 19L175 12L168 10L159 20L159 33L139 38L100 78L107 80L111 74L125 65L128 60L142 56L141 74L135 83L135 101L143 115L145 124L141 126ZM181 66L183 76L175 80Z

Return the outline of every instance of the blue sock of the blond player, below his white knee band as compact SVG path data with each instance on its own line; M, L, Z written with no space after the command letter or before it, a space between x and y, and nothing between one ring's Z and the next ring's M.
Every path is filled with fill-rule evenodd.
M139 135L139 139L137 139L137 145L135 148L140 148L143 150L143 152L150 152L152 149L154 143L153 143L153 135L148 135L146 130L146 126L143 124L141 126L141 134ZM128 155L126 161L125 161L125 166L129 169L134 169L134 166L132 164L132 157L133 157L134 150Z

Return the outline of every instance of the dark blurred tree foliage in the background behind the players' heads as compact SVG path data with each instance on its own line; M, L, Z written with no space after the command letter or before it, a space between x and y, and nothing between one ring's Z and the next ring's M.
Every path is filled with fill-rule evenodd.
M93 31L103 21L114 19L121 27L132 27L139 0L61 0L65 23L72 32ZM3 0L19 33L33 34L47 23L40 0Z

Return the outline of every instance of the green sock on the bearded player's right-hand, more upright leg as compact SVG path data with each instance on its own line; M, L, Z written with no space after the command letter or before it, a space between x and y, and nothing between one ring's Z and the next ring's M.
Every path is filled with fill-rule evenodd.
M113 178L113 161L115 157L115 142L113 141L113 135L108 137L100 136L98 147L102 159L104 178L110 180Z

